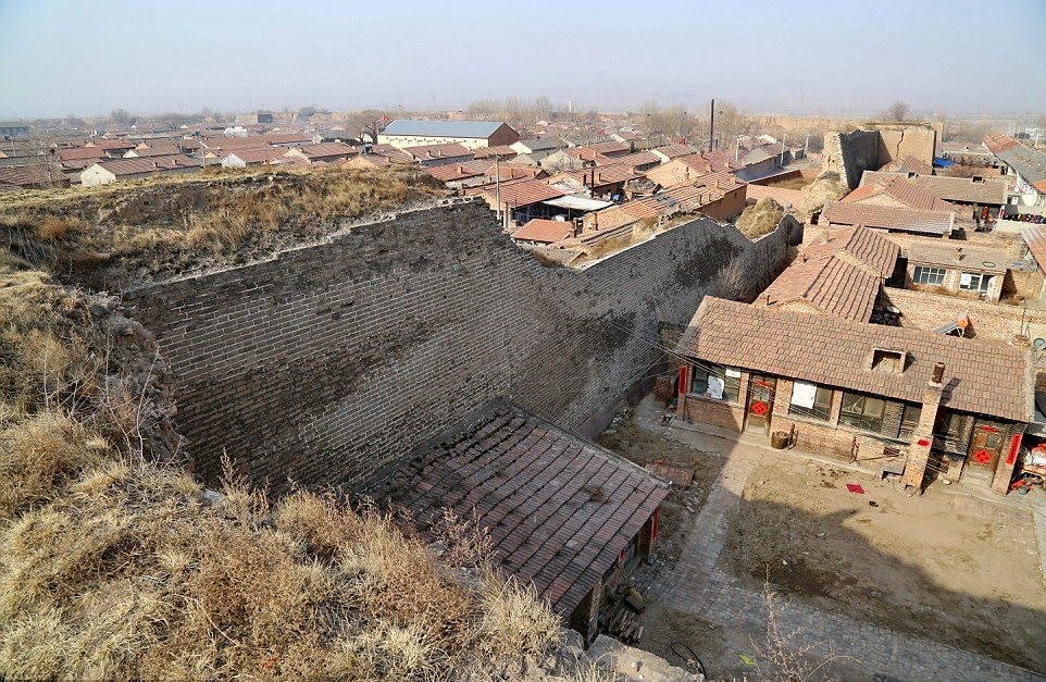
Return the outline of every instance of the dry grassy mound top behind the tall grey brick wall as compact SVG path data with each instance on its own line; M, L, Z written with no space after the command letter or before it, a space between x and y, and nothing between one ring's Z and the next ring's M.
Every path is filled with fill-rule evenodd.
M0 235L26 262L107 288L269 256L441 194L411 169L245 169L17 193L0 198Z

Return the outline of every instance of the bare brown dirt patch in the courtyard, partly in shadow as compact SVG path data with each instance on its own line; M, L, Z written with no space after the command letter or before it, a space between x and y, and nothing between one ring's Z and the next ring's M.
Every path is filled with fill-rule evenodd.
M1028 507L902 487L772 456L730 518L720 566L755 587L769 568L776 590L821 609L1046 671L1046 590Z

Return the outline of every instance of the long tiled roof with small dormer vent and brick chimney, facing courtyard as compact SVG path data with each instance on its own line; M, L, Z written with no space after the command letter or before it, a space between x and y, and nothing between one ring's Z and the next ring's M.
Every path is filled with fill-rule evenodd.
M944 362L943 406L1023 422L1032 414L1030 355L1012 346L712 297L680 346L708 362L912 402L922 402L934 363ZM872 370L875 349L906 351L905 370Z

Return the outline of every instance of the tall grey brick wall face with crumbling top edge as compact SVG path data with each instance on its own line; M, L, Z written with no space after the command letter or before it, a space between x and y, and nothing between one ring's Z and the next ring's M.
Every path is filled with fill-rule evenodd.
M485 204L359 225L272 260L126 293L178 377L206 479L223 451L276 491L362 481L491 398L589 435L729 263L761 287L799 225L707 219L583 271L515 248ZM758 290L758 289L755 289Z

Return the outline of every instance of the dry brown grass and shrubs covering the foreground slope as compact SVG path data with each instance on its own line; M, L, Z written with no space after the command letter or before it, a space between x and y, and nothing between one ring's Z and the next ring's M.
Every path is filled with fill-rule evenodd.
M372 506L270 501L232 468L207 493L145 461L96 381L89 299L17 266L0 272L0 678L490 679L557 640L469 523L448 517L444 542L477 588Z

